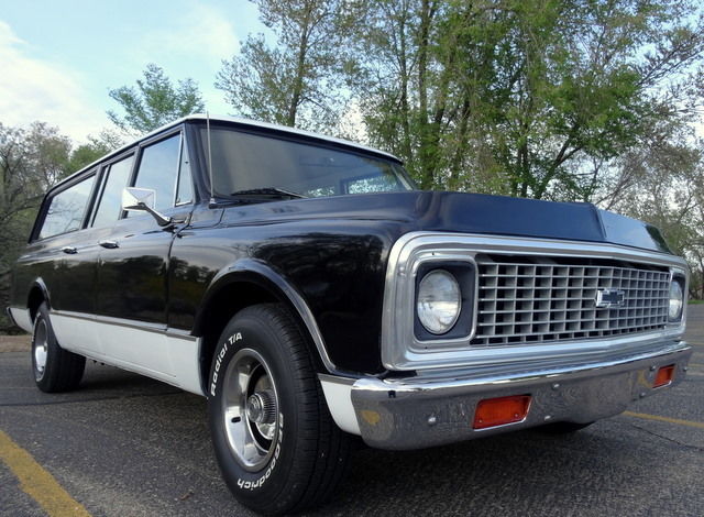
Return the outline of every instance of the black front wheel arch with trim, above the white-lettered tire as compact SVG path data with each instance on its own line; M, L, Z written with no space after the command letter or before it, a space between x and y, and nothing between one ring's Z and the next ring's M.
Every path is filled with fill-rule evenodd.
M284 304L305 331L317 370L323 373L337 372L302 295L264 262L246 258L221 270L213 277L196 315L193 334L200 338L199 367L204 388L222 329L238 311L264 302ZM207 393L206 389L204 392Z

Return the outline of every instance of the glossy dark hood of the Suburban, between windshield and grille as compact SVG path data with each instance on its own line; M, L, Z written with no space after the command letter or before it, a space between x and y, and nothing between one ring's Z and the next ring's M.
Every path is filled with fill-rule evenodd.
M395 221L402 233L443 231L608 242L670 253L659 230L585 202L553 202L483 194L410 191L334 196L237 206L226 223L309 219ZM223 222L224 222L223 221Z

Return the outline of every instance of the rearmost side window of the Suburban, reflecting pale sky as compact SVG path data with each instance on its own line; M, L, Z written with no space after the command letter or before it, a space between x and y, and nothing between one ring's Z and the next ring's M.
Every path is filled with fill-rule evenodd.
M40 239L80 229L95 179L90 176L51 199Z

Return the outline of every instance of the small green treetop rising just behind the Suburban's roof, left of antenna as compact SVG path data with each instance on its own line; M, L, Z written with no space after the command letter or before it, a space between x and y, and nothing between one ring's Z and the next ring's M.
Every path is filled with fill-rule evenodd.
M109 91L111 99L124 110L124 116L108 111L108 118L130 135L148 133L173 120L205 111L198 86L188 78L174 86L164 69L148 64L136 87L122 86Z

